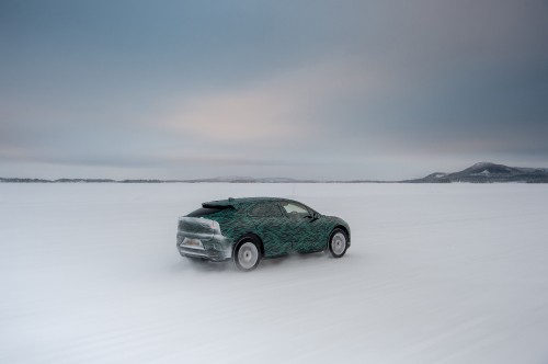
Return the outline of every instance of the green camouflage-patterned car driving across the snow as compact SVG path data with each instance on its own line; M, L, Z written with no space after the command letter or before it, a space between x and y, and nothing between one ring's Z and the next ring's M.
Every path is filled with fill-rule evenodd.
M261 259L329 250L341 258L350 247L350 227L286 198L249 197L206 202L179 218L176 247L183 257L232 259L242 271Z

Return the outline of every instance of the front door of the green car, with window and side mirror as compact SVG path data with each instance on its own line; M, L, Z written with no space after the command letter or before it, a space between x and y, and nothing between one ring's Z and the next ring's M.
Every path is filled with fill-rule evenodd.
M287 216L285 238L290 240L293 250L299 253L323 250L321 218L315 218L312 209L293 201L281 202L281 206Z

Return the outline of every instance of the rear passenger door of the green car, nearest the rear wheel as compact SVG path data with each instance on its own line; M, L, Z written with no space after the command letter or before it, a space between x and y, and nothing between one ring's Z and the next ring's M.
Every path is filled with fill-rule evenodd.
M263 241L264 257L285 255L292 250L292 241L286 238L287 217L276 203L258 203L248 212L255 234Z

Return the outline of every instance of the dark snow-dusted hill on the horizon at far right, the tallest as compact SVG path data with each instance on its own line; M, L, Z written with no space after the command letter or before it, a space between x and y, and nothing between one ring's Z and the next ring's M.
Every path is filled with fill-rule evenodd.
M435 172L418 180L402 181L407 183L492 183L492 182L525 182L548 183L548 170L543 168L518 168L480 162L454 173Z

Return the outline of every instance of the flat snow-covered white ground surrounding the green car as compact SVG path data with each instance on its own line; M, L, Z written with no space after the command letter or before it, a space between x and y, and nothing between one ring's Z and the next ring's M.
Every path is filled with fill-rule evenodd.
M175 249L273 195L352 247L251 273ZM548 363L548 185L0 184L0 363Z

